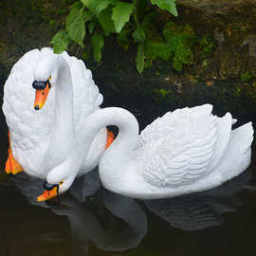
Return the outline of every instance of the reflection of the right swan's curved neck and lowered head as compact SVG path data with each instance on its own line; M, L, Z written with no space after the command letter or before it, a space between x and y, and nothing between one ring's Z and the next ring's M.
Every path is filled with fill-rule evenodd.
M99 194L100 198L96 196L98 205L99 201L102 201L104 208L113 214L110 218L111 224L115 223L113 217L116 216L126 225L121 229L119 227L118 232L106 229L106 225L102 225L102 220L99 220L98 214L93 214L88 206L82 205L76 198L65 196L62 199L62 205L52 210L56 214L68 217L74 245L77 248L83 248L83 253L86 252L84 248L87 248L89 242L106 251L123 251L138 247L147 233L148 225L146 214L136 200L106 190L101 190ZM106 212L102 209L101 212L105 217ZM109 217L103 219L106 220Z

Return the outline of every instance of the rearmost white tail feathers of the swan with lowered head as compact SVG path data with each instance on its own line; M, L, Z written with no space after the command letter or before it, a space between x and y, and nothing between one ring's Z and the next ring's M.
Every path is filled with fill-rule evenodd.
M227 151L217 167L223 176L222 180L229 180L238 174L242 174L249 166L253 133L251 122L247 122L231 131Z

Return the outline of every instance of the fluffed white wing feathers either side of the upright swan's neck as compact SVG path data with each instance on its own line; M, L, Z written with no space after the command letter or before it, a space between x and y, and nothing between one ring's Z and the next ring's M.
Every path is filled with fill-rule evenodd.
M56 88L51 89L46 105L40 112L37 112L33 107L35 90L32 88L32 82L34 81L34 69L40 67L46 58L51 58L53 55L51 48L28 51L13 65L4 87L3 111L9 126L12 153L27 174L44 179L50 169L56 166L56 162L66 158L66 155L62 155L64 144L68 144L67 141L72 139L77 141L81 139L86 118L99 109L103 101L98 86L92 79L91 71L85 67L81 60L70 57L66 52L63 52L61 56L68 64L71 74L70 86L73 88L75 136L64 138L63 144L53 145L54 149L51 148L50 150L52 158L56 159L56 162L47 160L48 140L52 135L56 121ZM62 71L64 72L64 70L60 70L60 72ZM60 136L61 133L60 130ZM87 172L88 169L98 164L105 143L106 130L102 129L95 138L80 171L85 170Z

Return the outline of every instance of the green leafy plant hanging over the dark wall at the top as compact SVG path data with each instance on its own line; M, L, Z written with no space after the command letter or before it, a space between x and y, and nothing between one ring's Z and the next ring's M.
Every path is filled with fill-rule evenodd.
M145 58L151 56L151 59L155 59L164 55L163 51L161 51L162 55L158 54L158 56L146 53L150 51L151 46L156 46L150 37L149 30L152 29L145 27L145 24L149 23L149 18L152 17L148 14L157 13L157 8L177 16L175 0L76 1L66 17L65 29L59 31L51 43L55 52L62 52L72 41L83 47L84 38L89 32L87 35L93 46L95 60L100 62L104 38L114 33L117 35L119 45L124 49L127 49L131 43L137 45L136 64L138 72L141 73ZM186 40L183 42L180 36L168 35L168 38L162 38L162 41L166 47L174 47L173 50L168 51L169 55L164 57L173 57L174 67L177 70L181 70L183 64L190 63L192 52L185 46L188 45ZM177 46L180 43L181 46Z

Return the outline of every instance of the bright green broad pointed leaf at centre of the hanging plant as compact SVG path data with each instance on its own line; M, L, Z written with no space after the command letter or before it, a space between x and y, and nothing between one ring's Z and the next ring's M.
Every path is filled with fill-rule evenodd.
M112 20L114 21L116 30L119 32L126 22L130 20L130 15L134 11L134 5L119 2L113 8Z

